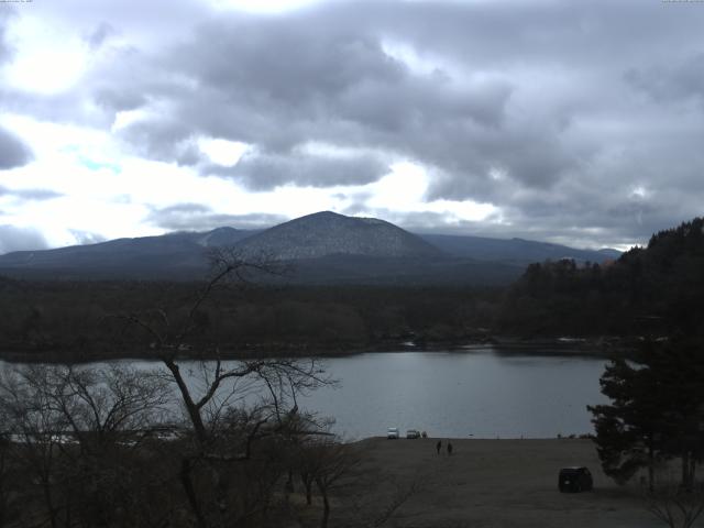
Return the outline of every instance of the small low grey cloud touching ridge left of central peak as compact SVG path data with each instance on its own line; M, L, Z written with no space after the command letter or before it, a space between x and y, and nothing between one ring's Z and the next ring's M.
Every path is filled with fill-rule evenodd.
M271 228L288 220L280 215L223 215L213 212L201 204L177 204L162 209L154 209L147 222L169 231L209 231L216 228L231 227L237 229Z

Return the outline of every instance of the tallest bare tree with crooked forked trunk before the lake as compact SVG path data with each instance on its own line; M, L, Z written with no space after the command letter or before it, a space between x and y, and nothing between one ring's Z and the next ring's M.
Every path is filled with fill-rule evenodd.
M279 448L294 433L290 418L298 413L297 397L330 383L314 359L223 360L217 336L204 337L206 305L212 306L216 295L233 294L253 277L280 274L282 267L268 256L252 257L231 249L212 250L209 260L211 275L182 320L162 309L120 316L148 337L177 387L193 439L191 449L183 453L178 477L200 528L266 512L271 486L284 468L284 461L276 460ZM184 351L190 362L183 361ZM252 468L258 468L255 475L248 473ZM256 488L246 485L253 482L263 486L257 499L243 501ZM248 493L237 493L242 490Z

